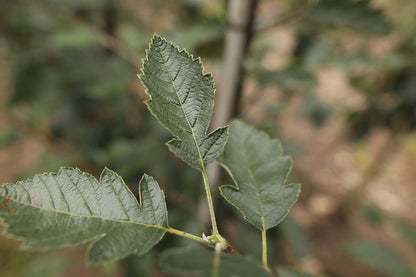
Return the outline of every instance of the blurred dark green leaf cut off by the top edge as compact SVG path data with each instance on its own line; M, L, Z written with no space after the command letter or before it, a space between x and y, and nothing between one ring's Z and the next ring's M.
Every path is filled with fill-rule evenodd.
M386 34L391 29L382 12L371 8L369 0L320 0L308 17L378 34Z

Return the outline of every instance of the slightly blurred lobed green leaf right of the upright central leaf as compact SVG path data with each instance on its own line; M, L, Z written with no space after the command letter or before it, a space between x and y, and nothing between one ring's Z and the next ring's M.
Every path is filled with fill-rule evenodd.
M219 163L235 186L221 186L221 195L260 230L268 230L288 214L300 185L284 185L292 161L277 140L235 120Z

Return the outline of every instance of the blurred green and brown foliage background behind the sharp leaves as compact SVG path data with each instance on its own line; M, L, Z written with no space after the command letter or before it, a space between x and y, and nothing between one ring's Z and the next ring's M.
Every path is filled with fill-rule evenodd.
M284 143L300 201L269 234L270 262L323 276L416 275L416 2L259 0L236 116ZM152 33L222 78L227 1L0 0L0 182L104 166L153 175L172 226L200 234L198 172L169 153L136 74ZM228 180L229 181L229 180ZM218 193L215 193L218 196ZM260 234L217 201L220 229ZM1 276L170 276L158 257L86 268L85 246L25 252L0 237Z

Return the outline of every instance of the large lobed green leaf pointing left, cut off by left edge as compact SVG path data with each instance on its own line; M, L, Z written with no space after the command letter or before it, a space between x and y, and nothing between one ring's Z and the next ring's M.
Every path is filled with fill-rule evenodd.
M165 234L163 191L150 176L139 184L140 204L115 172L100 182L78 169L61 168L0 187L0 217L7 233L31 248L60 248L94 240L88 263L148 252Z

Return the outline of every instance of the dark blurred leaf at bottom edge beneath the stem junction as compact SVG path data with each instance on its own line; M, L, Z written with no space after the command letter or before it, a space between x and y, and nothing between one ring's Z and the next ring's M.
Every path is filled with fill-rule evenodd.
M179 248L165 251L161 256L161 266L170 273L180 276L211 277L214 269L215 252L207 248ZM270 277L261 265L240 256L221 253L218 277Z

